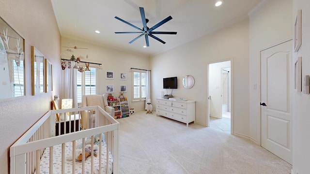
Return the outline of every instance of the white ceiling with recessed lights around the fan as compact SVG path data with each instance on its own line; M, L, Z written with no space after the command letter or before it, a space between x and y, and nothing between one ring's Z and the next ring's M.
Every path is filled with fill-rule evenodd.
M215 7L216 0L51 0L62 37L145 55L167 51L245 19L260 1L225 0L221 6ZM146 48L143 48L146 44L144 37L128 43L139 33L115 34L115 31L139 31L115 16L143 28L139 7L144 8L149 28L171 15L170 21L154 31L177 31L177 34L155 35L166 44L149 37L150 46Z

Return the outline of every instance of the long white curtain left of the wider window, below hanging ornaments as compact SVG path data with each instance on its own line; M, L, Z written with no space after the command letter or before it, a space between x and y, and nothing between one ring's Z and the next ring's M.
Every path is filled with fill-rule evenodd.
M71 68L64 69L64 98L72 99L72 107L78 107L78 94L77 94L77 73L78 70L73 67L76 65L75 61L71 61Z

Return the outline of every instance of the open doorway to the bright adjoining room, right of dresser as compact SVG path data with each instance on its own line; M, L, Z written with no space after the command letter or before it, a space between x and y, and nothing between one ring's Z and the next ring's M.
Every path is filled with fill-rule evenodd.
M231 133L231 60L208 64L209 127Z

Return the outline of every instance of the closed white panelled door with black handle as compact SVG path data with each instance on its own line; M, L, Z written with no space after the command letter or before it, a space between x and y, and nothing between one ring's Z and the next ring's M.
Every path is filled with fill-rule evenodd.
M261 51L262 146L292 164L292 40Z

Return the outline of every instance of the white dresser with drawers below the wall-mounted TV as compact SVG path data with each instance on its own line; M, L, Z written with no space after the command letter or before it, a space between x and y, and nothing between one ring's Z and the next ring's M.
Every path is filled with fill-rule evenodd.
M183 102L156 98L156 115L186 123L188 127L188 123L195 122L195 101Z

